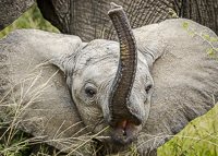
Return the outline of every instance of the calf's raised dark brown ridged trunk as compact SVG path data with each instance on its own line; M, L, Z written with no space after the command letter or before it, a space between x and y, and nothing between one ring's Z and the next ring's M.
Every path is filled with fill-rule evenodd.
M109 16L116 27L120 41L120 60L109 97L109 124L128 120L136 125L142 118L129 109L130 95L137 68L137 48L128 17L120 5L111 3Z

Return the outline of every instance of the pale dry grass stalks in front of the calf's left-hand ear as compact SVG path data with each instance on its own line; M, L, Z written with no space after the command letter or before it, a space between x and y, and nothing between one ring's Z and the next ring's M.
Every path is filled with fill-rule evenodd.
M40 65L37 65L37 68L40 68ZM34 70L37 70L37 68L35 68ZM41 83L40 85L36 86L36 83L39 81L39 77L40 77L39 75L41 74L41 70L39 70L38 73L35 72L34 70L32 71L31 74L24 75L19 81L19 83L15 83L11 87L11 89L5 94L5 96L1 97L0 99L1 118L3 119L3 121L1 122L1 128L0 128L1 133L2 133L0 136L0 141L1 141L0 154L5 155L5 156L12 155L12 154L20 155L22 151L25 151L26 148L28 148L28 146L34 145L34 144L57 143L57 144L65 144L68 146L62 148L62 151L57 152L56 154L52 154L52 155L59 155L61 152L65 152L65 151L69 151L68 155L71 155L71 154L82 155L78 152L78 149L84 148L86 144L92 142L93 137L98 137L98 134L100 134L107 128L95 135L89 135L89 133L87 133L85 135L75 136L76 135L75 133L71 137L62 139L61 137L62 133L68 131L68 129L71 129L73 127L76 127L76 124L78 124L78 123L75 123L73 125L70 125L69 128L60 132L60 129L62 124L64 123L63 121L63 123L57 130L55 136L50 140L45 140L47 136L23 137L24 133L21 133L21 132L17 133L19 131L16 129L19 129L20 125L23 122L25 122L25 120L22 119L23 113L28 110L32 110L29 107L32 106L33 101L40 99L40 95L44 94L47 91L47 88L50 87L49 82L58 73L58 71L55 72L53 75L51 75L45 83ZM28 84L27 88L25 87L26 84ZM17 86L21 88L20 97L13 97L14 88ZM10 96L10 99L19 99L19 100L13 100L12 104L8 104L8 103L4 104L3 103L4 99L5 98L8 99L9 96ZM28 98L29 100L27 103L24 103L26 101L26 98ZM34 121L35 119L31 118L26 120L28 120L28 122L32 122L32 120ZM83 130L80 130L77 133L80 133ZM17 135L21 135L21 136L17 136ZM38 153L41 154L41 152L38 152Z

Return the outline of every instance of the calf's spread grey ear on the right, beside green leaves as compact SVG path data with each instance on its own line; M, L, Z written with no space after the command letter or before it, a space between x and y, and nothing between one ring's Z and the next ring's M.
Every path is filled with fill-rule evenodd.
M162 145L218 101L218 61L216 55L206 53L218 41L208 44L198 35L189 36L193 28L182 28L184 21L196 33L218 38L190 20L167 20L134 31L155 83L149 118L138 137L144 153Z

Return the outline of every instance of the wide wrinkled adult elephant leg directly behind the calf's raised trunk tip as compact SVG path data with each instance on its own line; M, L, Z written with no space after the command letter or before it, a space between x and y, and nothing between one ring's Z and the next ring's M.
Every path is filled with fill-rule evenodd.
M117 39L111 21L106 12L110 9L109 0L37 0L38 7L48 21L62 33L77 35L84 41L96 38ZM113 0L122 5L129 16L132 28L171 17L169 0Z

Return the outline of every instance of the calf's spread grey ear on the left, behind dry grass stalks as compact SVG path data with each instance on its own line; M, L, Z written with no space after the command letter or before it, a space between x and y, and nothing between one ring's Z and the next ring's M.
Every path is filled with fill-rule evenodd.
M20 29L0 40L0 111L11 127L66 152L86 133L65 83L82 41L73 35ZM68 62L68 65L66 65ZM60 70L61 69L61 70Z

